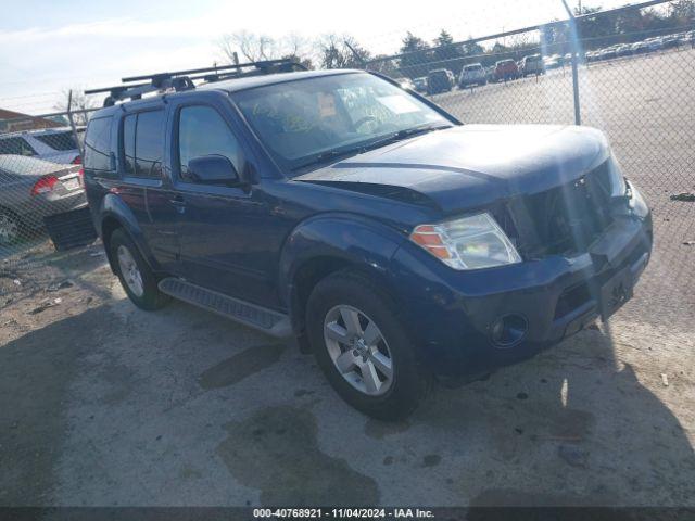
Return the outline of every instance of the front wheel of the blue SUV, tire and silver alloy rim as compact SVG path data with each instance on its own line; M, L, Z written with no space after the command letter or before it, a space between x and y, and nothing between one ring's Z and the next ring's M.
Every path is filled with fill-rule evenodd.
M380 340L359 344L359 340L341 343L327 338L329 328L340 330L342 327L340 338L343 340L351 335L350 329L354 331L354 321L353 328L345 327L348 321L342 318L345 308L348 313L351 313L350 309L356 312L363 340L369 336L369 330L374 332L371 322L376 325ZM365 415L384 421L403 419L415 410L427 394L432 379L417 360L416 347L399 317L397 306L378 290L375 281L352 270L328 276L312 291L306 317L316 360L333 390L345 402ZM333 317L336 322L331 321ZM364 356L355 356L358 353ZM353 369L339 370L340 361L333 361L334 358L348 360L342 364L343 367ZM361 364L362 367L355 364ZM390 378L388 371L380 370L388 367L391 370ZM367 374L371 371L372 378L362 378L365 374L363 368ZM374 385L375 374L377 385ZM369 385L369 382L372 384ZM376 391L378 385L380 387Z

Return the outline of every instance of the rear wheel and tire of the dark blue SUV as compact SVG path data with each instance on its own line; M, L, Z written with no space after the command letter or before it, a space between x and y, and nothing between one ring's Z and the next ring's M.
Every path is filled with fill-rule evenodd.
M123 228L115 230L111 236L109 252L121 285L136 306L153 312L169 303L172 298L160 291L156 277ZM129 260L134 263L132 269L128 269L128 255ZM128 272L124 274L124 270ZM139 281L137 275L139 275Z

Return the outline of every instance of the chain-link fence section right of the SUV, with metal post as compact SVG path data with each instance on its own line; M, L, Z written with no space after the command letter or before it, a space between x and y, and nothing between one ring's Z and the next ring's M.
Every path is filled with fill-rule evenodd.
M364 66L404 78L465 124L603 130L654 215L640 317L666 328L687 322L695 309L693 4L657 0L574 14L444 47L415 42L410 52Z

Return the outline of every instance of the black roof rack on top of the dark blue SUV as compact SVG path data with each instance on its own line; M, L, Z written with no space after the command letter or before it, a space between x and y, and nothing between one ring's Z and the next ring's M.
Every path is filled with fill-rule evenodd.
M180 92L195 88L194 81L214 82L222 79L240 78L247 76L260 76L264 74L289 73L293 71L306 71L306 67L292 60L264 60L258 62L238 63L232 65L218 65L213 67L190 68L173 73L156 73L142 76L122 78L124 84L115 87L85 90L85 94L109 92L103 106L113 106L117 101L139 100L150 92L163 92L169 89ZM191 76L197 75L197 76ZM144 82L131 84L131 81Z

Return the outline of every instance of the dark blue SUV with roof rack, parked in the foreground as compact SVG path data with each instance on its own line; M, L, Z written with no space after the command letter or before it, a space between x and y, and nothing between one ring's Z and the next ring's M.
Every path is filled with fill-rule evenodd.
M89 123L91 214L137 306L294 336L396 419L631 297L652 219L601 131L462 125L376 74L253 65L114 88Z

